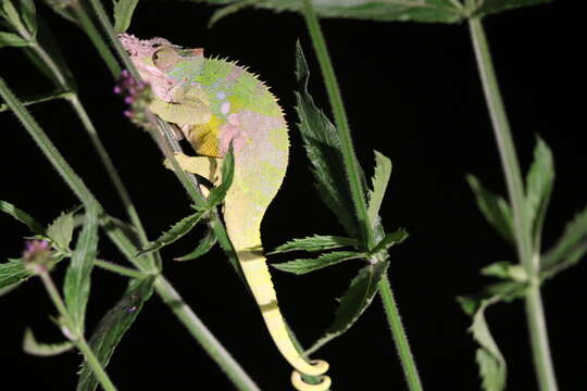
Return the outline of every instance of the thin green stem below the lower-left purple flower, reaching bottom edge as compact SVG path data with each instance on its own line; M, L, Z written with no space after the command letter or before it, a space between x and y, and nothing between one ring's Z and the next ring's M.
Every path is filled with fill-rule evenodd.
M59 290L57 289L55 285L53 283L53 280L51 279L51 276L47 270L43 270L39 274L39 277L42 280L42 283L45 285L45 288L47 289L47 292L49 293L49 297L51 298L51 301L55 305L55 307L59 311L59 314L61 315L61 318L64 321L64 326L67 328L68 333L76 332L70 325L72 325L72 319L70 317L70 314L67 313L67 308L65 307L65 303L63 302L63 299L61 298L61 294L59 293ZM72 342L76 345L76 348L82 352L84 355L84 358L88 362L89 367L93 371L93 375L96 376L96 379L100 382L102 388L105 391L116 391L116 387L114 387L114 383L112 380L110 380L110 377L105 373L104 368L93 354L92 350L86 342L86 339L82 335L66 335L65 337L72 339Z

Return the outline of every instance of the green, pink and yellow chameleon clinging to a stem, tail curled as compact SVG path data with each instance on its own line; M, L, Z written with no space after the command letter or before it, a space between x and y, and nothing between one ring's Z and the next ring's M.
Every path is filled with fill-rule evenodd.
M277 99L238 64L205 58L164 38L118 36L140 76L153 91L149 109L185 137L196 156L177 154L183 169L217 184L218 162L233 144L235 174L224 201L224 220L245 279L282 355L295 368L299 391L324 391L332 380L325 361L305 361L296 350L277 304L263 255L261 220L277 193L288 163L288 127ZM301 375L320 376L310 384Z

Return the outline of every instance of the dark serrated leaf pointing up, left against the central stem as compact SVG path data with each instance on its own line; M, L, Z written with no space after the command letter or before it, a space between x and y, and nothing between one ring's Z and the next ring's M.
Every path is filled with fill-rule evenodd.
M338 131L308 93L310 74L299 42L296 48L296 75L299 84L299 91L296 91L296 110L300 118L298 129L313 166L314 186L347 234L357 238L357 216L349 193Z

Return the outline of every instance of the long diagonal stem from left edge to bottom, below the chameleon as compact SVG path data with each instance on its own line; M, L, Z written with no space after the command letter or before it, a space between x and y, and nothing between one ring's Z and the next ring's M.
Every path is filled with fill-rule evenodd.
M75 174L72 167L59 153L59 151L49 140L45 131L42 131L42 129L33 118L30 113L28 113L28 111L23 106L23 104L18 101L18 99L8 88L2 77L0 77L0 97L2 97L2 99L8 103L8 105L11 108L14 114L16 114L16 117L24 125L28 134L34 138L34 140L36 141L37 146L41 149L45 156L58 171L58 173L70 186L70 188L77 195L77 198L85 205L90 205L91 207L95 207L93 205L96 205L96 207L99 211L99 214L102 214L103 209L98 203L93 194L86 187L82 178L79 178L77 174ZM135 265L135 267L137 267L141 272L150 273L150 270L147 268L145 263L140 262L141 257L135 257L135 254L138 253L138 249L130 242L130 240L126 237L126 235L123 232L122 229L120 229L118 227L111 227L110 229L107 230L107 234L109 235L111 240L116 245L118 245L118 248L121 248L123 254L125 254L128 257L128 260L133 263L133 265ZM175 290L173 290L171 285L166 282L166 280L164 280L163 277L159 277L159 279L160 279L160 282L157 285L157 291L159 295L166 299L173 299L174 302L183 303L183 300L180 299L178 293ZM172 302L171 300L166 300L166 303L171 303L171 302ZM178 315L177 312L174 311L174 313ZM209 332L195 333L196 332L195 330L198 330L200 328L201 321L198 319L196 314L193 314L191 308L183 304L179 313L182 313L182 316L180 317L178 316L179 320L184 324L184 326L186 326L186 328L190 331L190 333L198 341L203 339L203 341L200 341L202 345L203 343L210 343L213 346L215 346L215 349L222 350L224 352L223 354L228 355L228 353L224 350L224 348L221 346L217 340L205 341L205 339L208 338L213 338L213 336L210 335ZM247 376L247 374L240 368L238 363L234 361L225 360L222 362L222 365L225 365L223 366L223 370L225 370L227 374L230 373L233 376L236 377L236 379L238 380L238 384L252 384L253 383L252 380ZM232 378L232 380L235 381L235 384L236 384L237 380L235 380L234 378ZM257 390L257 388L242 388L242 390Z

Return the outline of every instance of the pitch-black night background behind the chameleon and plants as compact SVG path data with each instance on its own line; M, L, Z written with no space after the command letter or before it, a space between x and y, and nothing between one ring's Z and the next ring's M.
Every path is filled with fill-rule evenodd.
M554 154L557 182L545 228L547 248L587 199L585 97L575 98L575 92L584 92L579 87L584 41L573 3L519 9L490 16L485 23L523 168L529 164L537 134ZM38 8L77 77L82 99L129 188L148 235L154 238L189 212L183 188L161 165L150 138L123 117L110 74L86 36L47 8ZM189 2L143 1L129 31L145 38L163 36L177 45L204 47L209 54L238 60L261 75L279 97L291 124L292 147L284 187L264 219L266 249L312 234L341 235L311 185L294 126L298 38L312 66L311 91L329 112L301 16L247 10L207 29L212 10ZM323 28L360 162L367 176L373 149L394 162L383 219L389 230L408 228L410 238L391 250L389 277L424 386L428 390L478 390L475 344L466 333L470 319L455 297L477 291L489 281L478 275L479 268L512 260L514 253L486 224L464 180L466 173L474 173L486 186L504 193L467 27L326 20ZM20 96L51 88L17 49L0 51L0 72ZM73 111L61 101L32 110L107 211L123 217L113 187ZM1 113L0 124L0 199L43 223L78 204L15 117ZM0 230L0 257L18 256L26 228L3 216ZM216 249L190 263L171 261L190 251L195 239L184 238L163 251L164 274L261 389L290 389L290 368L274 349L253 301L222 252ZM124 262L105 238L100 255ZM286 260L289 257L284 255L270 261ZM63 266L54 273L59 281ZM355 270L357 264L348 263L301 277L272 272L280 306L305 344L328 326L335 299ZM561 390L587 389L580 358L587 349L585 276L587 265L579 264L544 289ZM88 330L122 294L125 282L95 270ZM77 354L39 358L21 353L26 327L33 327L43 341L61 340L49 319L55 311L40 282L30 280L2 297L0 311L4 381L15 376L23 390L74 389ZM522 302L492 307L488 320L509 364L509 390L535 390ZM316 357L329 361L336 390L405 389L378 298L346 336L327 344ZM121 390L233 389L157 295L118 345L108 371ZM208 386L198 387L200 382Z

